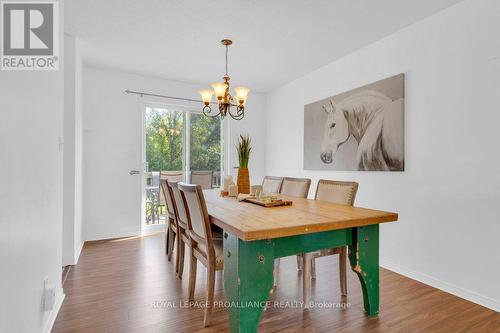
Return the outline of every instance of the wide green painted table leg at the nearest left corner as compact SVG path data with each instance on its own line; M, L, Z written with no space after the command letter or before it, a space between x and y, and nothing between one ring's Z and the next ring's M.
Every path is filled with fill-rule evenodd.
M257 332L273 288L273 267L272 242L245 242L224 233L224 290L231 333Z

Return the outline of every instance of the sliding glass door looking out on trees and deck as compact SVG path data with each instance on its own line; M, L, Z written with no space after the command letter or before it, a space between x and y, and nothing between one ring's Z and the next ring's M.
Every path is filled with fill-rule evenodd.
M144 124L145 223L163 224L161 178L185 182L202 179L204 187L220 186L223 126L220 119L195 111L156 105L146 107Z

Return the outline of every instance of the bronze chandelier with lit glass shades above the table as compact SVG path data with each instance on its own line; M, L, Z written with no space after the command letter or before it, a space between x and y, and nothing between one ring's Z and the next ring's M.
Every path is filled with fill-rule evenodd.
M224 119L227 115L235 120L241 120L245 116L245 105L248 98L250 89L246 87L235 87L234 96L231 95L229 87L229 80L231 79L227 74L227 53L229 45L233 42L229 39L221 40L222 45L226 47L226 74L223 77L224 82L216 82L211 84L212 89L200 90L201 99L205 104L203 106L203 114L209 117L219 117ZM212 102L212 95L215 93L218 111L213 111L210 107Z

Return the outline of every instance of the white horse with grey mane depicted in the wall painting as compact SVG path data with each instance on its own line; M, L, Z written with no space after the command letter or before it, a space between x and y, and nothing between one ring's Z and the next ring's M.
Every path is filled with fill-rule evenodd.
M339 103L323 105L328 114L321 147L323 163L332 163L352 135L358 142L358 170L404 170L403 99L366 90Z

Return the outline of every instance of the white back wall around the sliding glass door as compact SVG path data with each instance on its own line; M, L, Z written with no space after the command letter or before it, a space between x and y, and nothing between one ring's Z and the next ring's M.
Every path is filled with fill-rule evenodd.
M145 101L126 89L199 98L200 85L84 67L83 71L83 233L85 240L141 233L142 117ZM251 93L244 120L229 120L229 165L237 165L234 143L240 132L254 141L250 173L254 182L264 174L265 97ZM185 105L185 103L184 103ZM199 104L193 104L199 108ZM235 160L236 159L236 160Z

